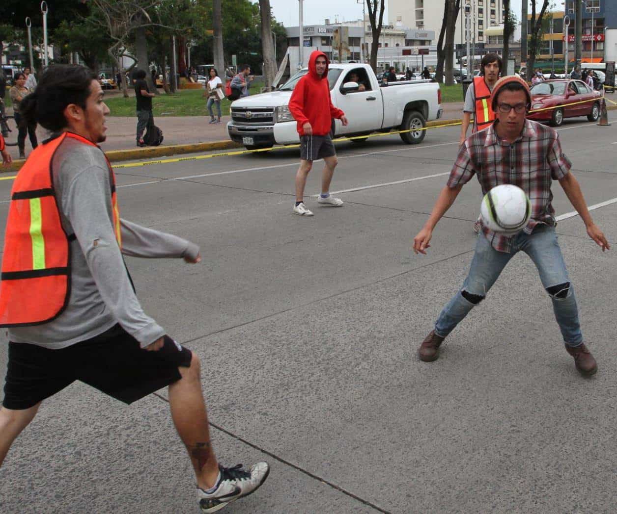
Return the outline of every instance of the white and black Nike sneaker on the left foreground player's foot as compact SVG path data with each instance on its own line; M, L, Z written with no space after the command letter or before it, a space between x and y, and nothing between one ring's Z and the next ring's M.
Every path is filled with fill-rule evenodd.
M217 512L234 500L255 492L268 478L270 466L267 462L258 462L252 465L251 469L245 470L242 464L233 468L225 468L219 464L218 470L221 476L213 492L205 492L201 487L197 487L201 512Z

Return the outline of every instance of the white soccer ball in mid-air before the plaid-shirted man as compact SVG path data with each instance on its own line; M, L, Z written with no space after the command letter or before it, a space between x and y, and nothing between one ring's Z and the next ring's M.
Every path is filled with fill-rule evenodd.
M518 186L495 186L482 199L482 223L494 232L513 235L524 229L531 216L531 202Z

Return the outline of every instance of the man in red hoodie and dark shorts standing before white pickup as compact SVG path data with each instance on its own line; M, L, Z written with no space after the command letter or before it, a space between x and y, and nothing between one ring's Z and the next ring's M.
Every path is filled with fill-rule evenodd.
M320 51L314 51L309 57L309 73L296 84L289 99L289 111L297 121L300 134L300 168L296 173L296 205L294 214L313 216L304 205L304 186L313 167L313 161L325 162L321 176L321 195L317 202L332 207L343 205L341 198L331 197L330 182L337 165L336 150L330 137L332 118L347 125L347 118L341 109L332 105L328 84L328 58Z

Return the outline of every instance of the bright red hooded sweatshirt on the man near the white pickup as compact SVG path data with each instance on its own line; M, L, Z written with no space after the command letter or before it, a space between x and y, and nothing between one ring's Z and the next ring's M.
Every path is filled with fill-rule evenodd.
M315 68L315 62L320 55L326 59L326 71L321 76L317 75ZM332 128L332 118L340 120L345 115L341 109L332 105L328 85L328 65L326 54L318 50L313 51L309 57L309 73L298 81L289 99L289 111L298 122L297 131L300 136L304 136L302 125L307 121L313 128L313 135L325 136Z

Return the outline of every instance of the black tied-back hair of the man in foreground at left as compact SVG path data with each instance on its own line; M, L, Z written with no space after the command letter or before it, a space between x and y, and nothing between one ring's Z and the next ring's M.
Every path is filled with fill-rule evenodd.
M67 105L86 108L93 80L96 75L84 66L51 65L41 75L36 91L22 100L20 113L29 123L36 121L49 131L60 131L68 126L64 117Z

